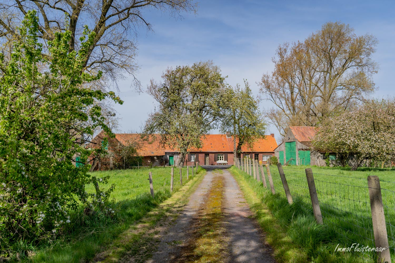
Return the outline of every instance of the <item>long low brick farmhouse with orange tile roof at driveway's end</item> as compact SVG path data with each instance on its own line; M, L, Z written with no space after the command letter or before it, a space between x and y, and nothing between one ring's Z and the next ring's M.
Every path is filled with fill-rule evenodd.
M107 137L105 132L100 132L95 136L92 142L101 145L103 138ZM202 147L200 149L189 149L184 165L193 165L199 161L200 165L221 165L233 164L233 137L226 134L206 134L202 136ZM115 147L117 145L136 145L137 154L142 157L141 166L173 166L177 163L180 153L175 149L170 149L160 144L160 135L152 134L149 140L142 140L141 134L138 133L117 133L114 139L109 139L106 145L109 151L109 157L101 160L101 164L95 169L112 169L112 159ZM277 147L274 134L266 135L265 138L258 139L252 147L243 145L242 156L248 155L250 158L261 160L265 164L266 161L274 156ZM99 168L100 167L100 168Z

